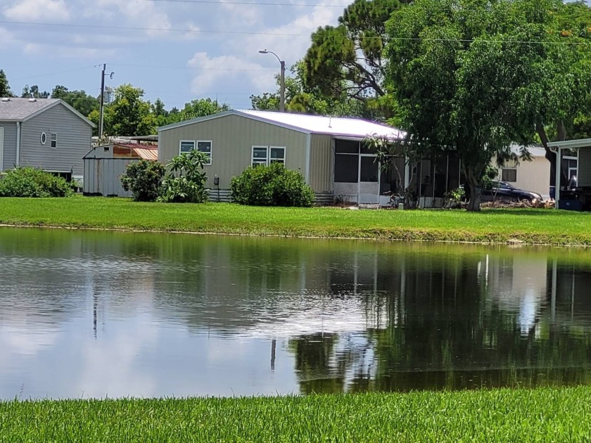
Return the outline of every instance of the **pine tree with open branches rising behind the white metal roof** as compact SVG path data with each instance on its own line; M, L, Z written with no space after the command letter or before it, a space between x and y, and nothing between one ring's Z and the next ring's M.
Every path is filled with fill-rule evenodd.
M393 117L395 106L384 84L386 20L407 0L355 0L338 26L319 27L304 58L303 80L326 96L346 94L376 116Z

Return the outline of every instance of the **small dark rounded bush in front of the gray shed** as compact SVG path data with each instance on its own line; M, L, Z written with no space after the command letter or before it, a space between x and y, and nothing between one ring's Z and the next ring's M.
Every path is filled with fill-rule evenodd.
M127 165L125 174L120 176L121 184L125 191L132 191L134 200L153 202L158 198L160 183L165 171L162 163L142 159Z

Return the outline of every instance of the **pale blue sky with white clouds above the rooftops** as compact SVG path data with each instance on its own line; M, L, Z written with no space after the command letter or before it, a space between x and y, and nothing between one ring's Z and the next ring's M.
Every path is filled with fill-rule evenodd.
M210 97L236 109L276 91L279 60L303 58L310 34L349 0L0 0L0 69L15 94L56 84L97 96L131 83L167 109ZM302 6L305 5L305 6Z

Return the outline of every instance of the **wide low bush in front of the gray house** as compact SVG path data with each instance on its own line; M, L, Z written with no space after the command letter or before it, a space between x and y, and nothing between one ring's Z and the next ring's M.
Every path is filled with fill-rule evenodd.
M0 180L1 197L69 197L72 187L63 177L34 167L15 167Z

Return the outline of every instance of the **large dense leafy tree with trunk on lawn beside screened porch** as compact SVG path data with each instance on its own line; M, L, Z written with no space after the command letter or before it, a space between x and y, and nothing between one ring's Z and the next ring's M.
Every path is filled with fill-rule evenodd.
M525 143L524 101L543 77L549 31L561 6L554 0L416 0L388 21L388 84L397 93L402 127L432 155L455 152L471 200L492 158L514 159ZM523 149L522 158L528 158Z

